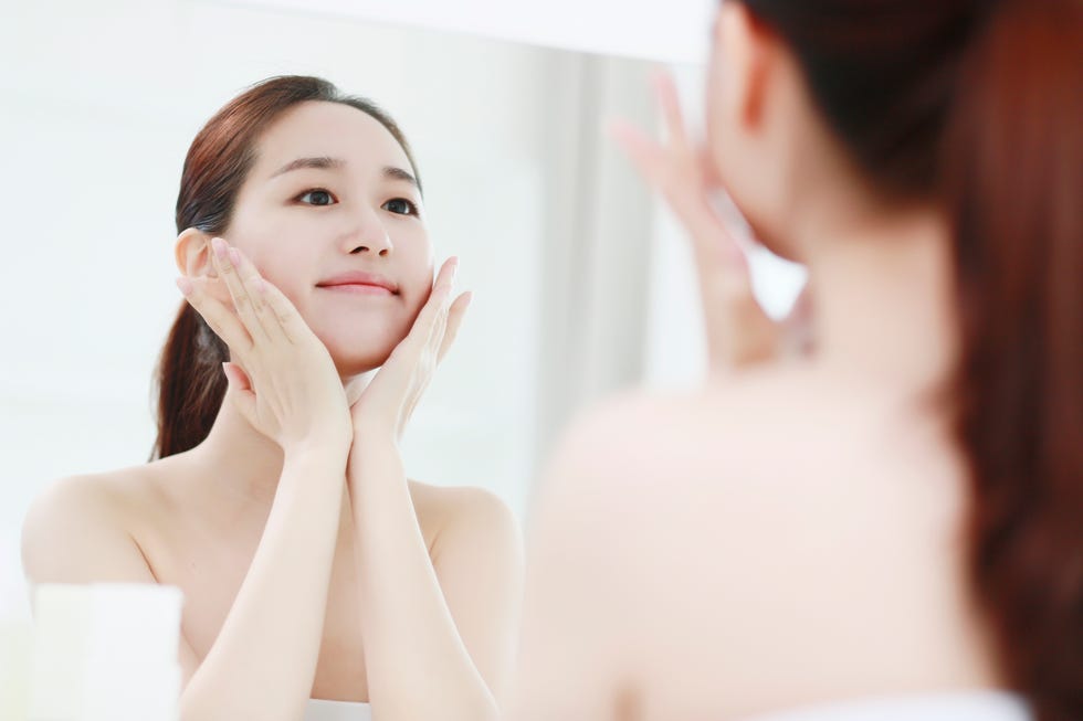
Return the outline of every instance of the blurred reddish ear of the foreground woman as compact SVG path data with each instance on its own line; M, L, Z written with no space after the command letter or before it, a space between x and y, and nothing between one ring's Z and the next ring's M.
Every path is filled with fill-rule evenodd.
M743 2L723 2L715 24L715 46L721 49L727 98L734 117L746 129L764 119L769 85L775 79L779 38Z

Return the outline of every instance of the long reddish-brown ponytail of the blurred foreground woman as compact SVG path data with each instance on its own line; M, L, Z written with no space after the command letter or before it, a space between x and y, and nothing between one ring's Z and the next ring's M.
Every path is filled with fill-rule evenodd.
M1006 681L1083 719L1083 3L992 3L947 119L971 587Z

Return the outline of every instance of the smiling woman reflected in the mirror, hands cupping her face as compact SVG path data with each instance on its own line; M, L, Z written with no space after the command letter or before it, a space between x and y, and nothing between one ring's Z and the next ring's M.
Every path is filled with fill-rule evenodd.
M494 718L518 533L402 469L469 295L455 259L433 282L398 127L318 78L261 83L192 142L177 229L155 457L45 492L30 581L179 586L183 721Z

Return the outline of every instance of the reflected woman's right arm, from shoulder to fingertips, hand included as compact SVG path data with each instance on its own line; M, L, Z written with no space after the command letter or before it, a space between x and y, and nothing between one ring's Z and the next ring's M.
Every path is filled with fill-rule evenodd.
M398 450L470 301L451 301L455 263L351 407L347 486L369 697L381 721L495 719L513 645L522 562L511 515L477 491L449 515L430 559Z

